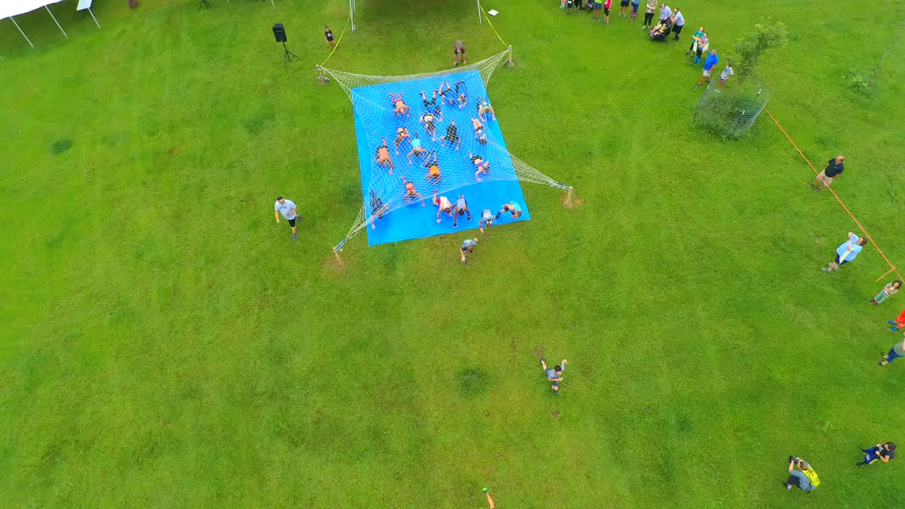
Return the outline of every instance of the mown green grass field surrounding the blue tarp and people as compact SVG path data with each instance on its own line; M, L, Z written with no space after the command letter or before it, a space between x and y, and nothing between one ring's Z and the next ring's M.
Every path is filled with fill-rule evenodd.
M4 507L900 507L902 307L868 300L868 246L762 116L691 129L691 27L729 52L762 14L770 110L893 263L905 46L898 2L681 4L650 43L558 3L488 2L515 48L489 85L512 153L585 200L523 186L532 220L331 253L361 203L351 105L314 65L348 4L95 5L0 24L0 505ZM329 61L372 74L504 48L470 2L360 0ZM271 25L300 62L287 69ZM732 83L729 83L731 86ZM68 149L66 149L69 147ZM300 240L275 225L291 197ZM567 357L562 394L538 366ZM823 481L788 493L786 456Z

